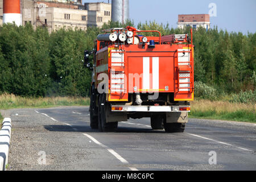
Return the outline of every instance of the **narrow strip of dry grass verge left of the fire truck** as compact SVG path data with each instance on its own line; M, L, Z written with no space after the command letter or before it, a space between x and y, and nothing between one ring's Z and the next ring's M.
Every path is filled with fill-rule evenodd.
M0 109L53 106L86 106L90 104L88 97L20 97L14 94L0 96Z

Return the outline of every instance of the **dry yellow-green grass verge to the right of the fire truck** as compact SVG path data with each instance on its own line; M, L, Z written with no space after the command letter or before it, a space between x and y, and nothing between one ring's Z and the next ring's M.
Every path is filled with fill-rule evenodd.
M256 123L255 110L255 104L195 100L191 102L189 117Z

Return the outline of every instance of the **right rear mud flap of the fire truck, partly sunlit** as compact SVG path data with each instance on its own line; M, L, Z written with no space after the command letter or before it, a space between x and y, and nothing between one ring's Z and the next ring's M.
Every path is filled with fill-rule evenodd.
M188 113L166 113L166 123L187 123Z

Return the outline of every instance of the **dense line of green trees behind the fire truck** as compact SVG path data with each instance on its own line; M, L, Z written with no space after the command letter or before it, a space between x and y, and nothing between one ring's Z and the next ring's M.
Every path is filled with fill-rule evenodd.
M92 50L103 29L134 26L158 30L162 35L190 33L156 22L125 24L109 22L102 28L60 29L51 34L46 27L31 24L0 27L0 94L19 96L88 96L91 73L83 68L84 50ZM153 34L152 34L153 35ZM256 33L227 32L212 27L193 30L195 81L219 92L255 90Z

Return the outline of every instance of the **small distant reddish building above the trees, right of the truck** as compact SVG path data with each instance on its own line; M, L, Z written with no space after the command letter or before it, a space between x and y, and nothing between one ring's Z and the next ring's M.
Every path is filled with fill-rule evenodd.
M210 28L210 15L208 14L191 14L178 15L178 28L191 26L193 28L204 27L206 30Z

